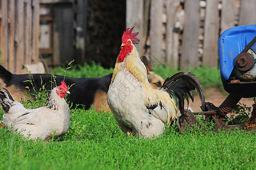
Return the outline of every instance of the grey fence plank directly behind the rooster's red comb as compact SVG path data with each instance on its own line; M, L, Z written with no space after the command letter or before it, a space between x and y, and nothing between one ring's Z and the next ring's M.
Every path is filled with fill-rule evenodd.
M140 54L143 53L145 40L143 39L143 1L141 0L127 0L126 1L126 28L134 27L133 32L139 32L139 44L136 48Z

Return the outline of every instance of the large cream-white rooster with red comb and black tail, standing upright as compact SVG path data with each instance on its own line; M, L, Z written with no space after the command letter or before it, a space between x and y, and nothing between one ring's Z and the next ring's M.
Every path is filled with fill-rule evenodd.
M154 138L170 126L178 114L183 115L184 98L193 100L197 89L204 107L204 91L199 79L188 72L177 73L164 82L162 89L154 90L147 80L147 70L134 44L139 43L138 32L127 28L122 36L121 50L115 63L107 99L118 122L127 135Z

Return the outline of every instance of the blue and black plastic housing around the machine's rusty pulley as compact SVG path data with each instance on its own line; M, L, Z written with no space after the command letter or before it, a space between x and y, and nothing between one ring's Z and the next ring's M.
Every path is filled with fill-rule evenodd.
M255 97L256 83L230 83L229 77L235 66L238 54L256 36L256 24L243 25L226 29L219 39L221 80L225 90L229 93L238 92L241 97ZM256 44L252 46L255 52Z

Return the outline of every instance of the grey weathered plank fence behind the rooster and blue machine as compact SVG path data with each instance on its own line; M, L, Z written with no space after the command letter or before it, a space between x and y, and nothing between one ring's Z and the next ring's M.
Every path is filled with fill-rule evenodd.
M175 69L218 66L225 29L256 24L255 0L127 0L126 27L139 31L138 51L153 65Z

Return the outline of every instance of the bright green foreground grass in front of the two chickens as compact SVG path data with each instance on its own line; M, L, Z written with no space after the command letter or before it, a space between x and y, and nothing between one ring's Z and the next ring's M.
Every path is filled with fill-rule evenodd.
M2 112L1 112L2 114ZM180 133L176 125L155 140L126 137L112 113L71 110L61 138L23 141L0 128L1 169L254 169L256 137L239 130ZM67 141L67 142L61 142ZM59 142L59 143L57 143Z

